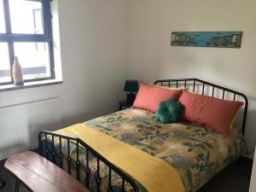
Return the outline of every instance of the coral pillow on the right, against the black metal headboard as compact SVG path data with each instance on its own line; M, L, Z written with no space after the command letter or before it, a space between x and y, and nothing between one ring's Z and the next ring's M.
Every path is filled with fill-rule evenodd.
M211 96L183 91L178 102L183 104L183 121L201 125L227 136L236 112L243 102L231 102Z

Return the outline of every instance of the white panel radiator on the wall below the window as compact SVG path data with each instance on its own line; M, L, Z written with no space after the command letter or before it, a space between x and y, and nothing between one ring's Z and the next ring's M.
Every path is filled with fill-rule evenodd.
M54 131L60 127L58 97L0 108L0 160L38 148L39 131Z

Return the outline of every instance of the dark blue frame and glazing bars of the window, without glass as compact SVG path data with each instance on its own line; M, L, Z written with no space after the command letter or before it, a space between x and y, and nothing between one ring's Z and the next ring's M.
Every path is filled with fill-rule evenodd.
M55 79L55 61L54 61L54 47L53 47L53 34L52 34L52 15L50 9L51 0L29 0L34 2L41 2L43 9L44 19L44 33L43 34L21 34L13 33L11 29L10 20L10 9L9 0L3 0L3 15L5 22L5 33L0 33L0 43L7 43L9 48L9 66L10 66L10 78L11 81L0 83L14 84L13 73L13 62L15 60L15 46L16 42L24 43L47 43L49 46L49 69L50 77L40 79L26 79L24 82L36 82L42 80Z

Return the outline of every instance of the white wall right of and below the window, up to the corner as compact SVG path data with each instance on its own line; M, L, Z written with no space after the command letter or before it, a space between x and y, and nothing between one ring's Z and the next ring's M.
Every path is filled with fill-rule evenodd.
M116 111L124 97L126 9L125 0L59 1L64 83L0 92L0 107L60 96L62 126Z

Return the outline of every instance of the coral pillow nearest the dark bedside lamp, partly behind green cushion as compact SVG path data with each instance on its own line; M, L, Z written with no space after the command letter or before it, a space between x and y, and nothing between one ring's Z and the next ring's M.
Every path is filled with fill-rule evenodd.
M167 99L174 99L177 101L177 98L181 93L182 90L171 90L147 84L140 84L140 89L138 90L132 108L141 108L154 113L160 102L164 102Z

